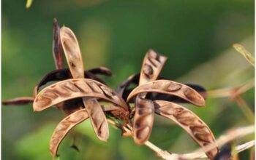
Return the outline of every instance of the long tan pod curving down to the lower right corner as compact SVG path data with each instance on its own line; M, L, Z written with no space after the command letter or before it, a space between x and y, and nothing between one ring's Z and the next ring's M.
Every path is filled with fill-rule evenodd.
M154 101L155 112L167 119L174 121L182 127L201 147L214 143L215 138L211 129L192 111L181 107L176 103L170 103L164 100ZM206 152L209 159L214 159L218 153L218 148Z

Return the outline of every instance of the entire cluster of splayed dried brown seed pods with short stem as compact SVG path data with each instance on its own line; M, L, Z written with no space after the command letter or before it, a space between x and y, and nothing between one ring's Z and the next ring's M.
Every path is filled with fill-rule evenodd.
M69 68L64 68L63 55ZM112 76L112 72L105 67L84 71L75 34L67 27L59 28L57 20L54 20L53 59L56 70L50 71L39 81L34 88L33 97L19 97L3 102L4 105L33 102L34 111L42 111L55 105L67 113L67 117L58 124L50 140L52 156L56 156L59 144L67 132L88 118L99 140L108 140L110 122L120 128L124 135L132 135L136 144L147 145L160 152L157 146L148 142L154 124L154 113L176 122L202 148L204 145L214 145L211 129L195 113L176 104L182 102L203 106L206 89L196 84L186 85L165 80L159 76L167 57L154 50L147 52L140 74L129 76L114 92L97 76ZM50 81L58 82L40 90ZM129 88L130 84L138 87ZM100 105L102 101L112 104ZM129 103L135 103L135 108L130 108ZM111 116L111 119L121 119L123 124L107 119L105 114ZM217 153L216 145L206 151L208 159L214 159Z

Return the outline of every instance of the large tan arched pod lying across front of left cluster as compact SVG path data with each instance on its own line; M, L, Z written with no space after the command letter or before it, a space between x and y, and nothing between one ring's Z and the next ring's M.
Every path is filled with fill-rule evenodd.
M97 97L108 100L128 111L127 103L105 84L91 79L67 79L52 84L38 93L34 111L42 111L52 105L77 97Z

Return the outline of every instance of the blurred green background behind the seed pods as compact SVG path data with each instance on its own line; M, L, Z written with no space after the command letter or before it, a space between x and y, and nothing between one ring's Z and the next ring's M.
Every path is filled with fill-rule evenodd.
M168 57L162 76L202 84L207 89L236 87L253 79L254 68L235 49L241 43L255 52L253 0L148 0L148 1L2 1L2 100L31 95L45 73L55 68L52 58L52 23L72 28L80 43L86 68L110 68L106 78L115 88L140 65L148 49ZM254 111L255 91L243 95ZM188 105L185 105L188 106ZM246 126L249 121L229 98L209 98L195 111L214 135ZM31 105L1 108L1 158L51 159L48 145L64 113L54 108L33 113ZM70 148L75 137L80 153ZM180 127L157 116L151 142L167 151L189 153L198 148ZM240 141L238 141L240 142ZM59 148L61 159L158 159L145 146L122 138L110 127L108 143L97 140L86 121L72 130ZM247 159L249 151L239 155Z

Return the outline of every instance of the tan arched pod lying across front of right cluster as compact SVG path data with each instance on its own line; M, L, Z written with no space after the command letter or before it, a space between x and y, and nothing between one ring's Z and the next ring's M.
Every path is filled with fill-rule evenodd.
M203 97L194 89L184 84L168 80L151 81L136 87L127 97L127 102L129 102L132 97L135 97L136 95L143 92L158 92L167 95L175 95L177 97L181 97L184 100L187 100L189 103L198 106L205 105L205 100L203 99Z

